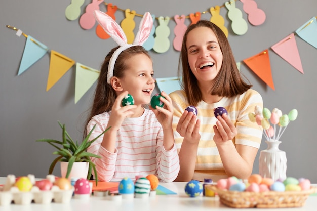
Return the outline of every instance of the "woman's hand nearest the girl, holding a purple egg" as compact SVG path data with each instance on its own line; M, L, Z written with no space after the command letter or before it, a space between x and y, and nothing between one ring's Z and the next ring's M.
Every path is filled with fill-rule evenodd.
M185 110L178 121L176 131L190 143L197 143L201 139L199 134L200 124L200 120L193 112Z

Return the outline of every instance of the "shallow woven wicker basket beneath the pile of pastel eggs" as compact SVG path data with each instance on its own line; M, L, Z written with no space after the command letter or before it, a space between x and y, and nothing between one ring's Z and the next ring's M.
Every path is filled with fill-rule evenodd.
M205 188L216 192L220 202L234 208L280 208L280 207L301 207L306 199L317 189L311 187L305 191L285 191L285 192L238 192L218 189L216 185L205 185Z

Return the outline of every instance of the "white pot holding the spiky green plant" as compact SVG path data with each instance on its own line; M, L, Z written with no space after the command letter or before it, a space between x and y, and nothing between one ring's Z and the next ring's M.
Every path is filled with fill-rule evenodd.
M66 177L68 162L60 162L61 163L61 175L62 177ZM69 179L80 179L87 178L89 170L89 162L74 162L72 165L70 174L68 176Z

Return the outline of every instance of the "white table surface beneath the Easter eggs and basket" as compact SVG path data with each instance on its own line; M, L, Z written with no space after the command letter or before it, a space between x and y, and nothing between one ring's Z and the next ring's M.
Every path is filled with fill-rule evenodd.
M4 184L6 178L0 178L0 184ZM161 186L176 192L173 195L156 195L154 197L142 199L122 199L119 201L108 200L105 197L91 196L87 200L72 198L69 203L35 204L19 205L10 204L8 206L0 206L0 211L88 211L88 210L234 210L220 203L219 197L188 197L185 194L184 187L186 182L160 183ZM315 185L314 185L315 186ZM306 204L298 208L257 208L270 211L315 211L317 208L317 196L309 196ZM256 208L239 208L239 211L252 210Z

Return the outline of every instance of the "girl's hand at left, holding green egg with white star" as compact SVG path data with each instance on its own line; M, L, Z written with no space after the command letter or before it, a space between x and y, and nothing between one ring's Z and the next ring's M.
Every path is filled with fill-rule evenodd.
M120 128L123 120L127 116L134 114L131 109L135 109L137 107L136 105L127 105L121 107L121 101L124 97L126 97L126 95L128 95L128 91L118 95L114 101L108 122L108 126L111 126L111 130L117 131Z

